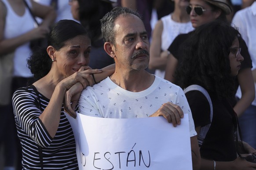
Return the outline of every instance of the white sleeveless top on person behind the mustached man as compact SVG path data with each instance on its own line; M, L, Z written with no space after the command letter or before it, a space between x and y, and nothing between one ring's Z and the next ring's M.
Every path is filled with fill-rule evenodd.
M172 14L162 17L161 21L163 22L163 32L161 36L161 49L163 51L168 50L176 36L183 33L189 33L194 29L191 22L182 23L173 21ZM165 71L156 69L155 75L164 78Z

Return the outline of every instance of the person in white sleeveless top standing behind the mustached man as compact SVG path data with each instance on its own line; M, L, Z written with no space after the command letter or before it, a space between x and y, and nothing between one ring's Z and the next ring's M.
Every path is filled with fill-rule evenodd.
M168 47L181 33L189 33L194 28L190 16L186 12L189 2L174 0L174 11L162 17L155 25L150 44L149 69L156 69L155 75L165 77L165 67L168 58Z

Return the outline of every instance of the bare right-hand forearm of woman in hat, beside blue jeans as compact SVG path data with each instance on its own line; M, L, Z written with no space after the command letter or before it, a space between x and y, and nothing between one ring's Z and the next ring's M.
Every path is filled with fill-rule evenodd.
M238 73L238 82L241 88L241 98L234 106L234 111L237 113L238 117L251 105L255 98L255 87L252 77L252 70L246 68Z

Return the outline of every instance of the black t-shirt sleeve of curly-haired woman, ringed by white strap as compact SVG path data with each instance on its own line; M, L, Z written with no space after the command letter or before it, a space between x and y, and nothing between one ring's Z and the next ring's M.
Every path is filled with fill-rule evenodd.
M205 97L198 90L192 90L186 93L187 101L190 105L195 127L204 127L210 122L210 105Z

